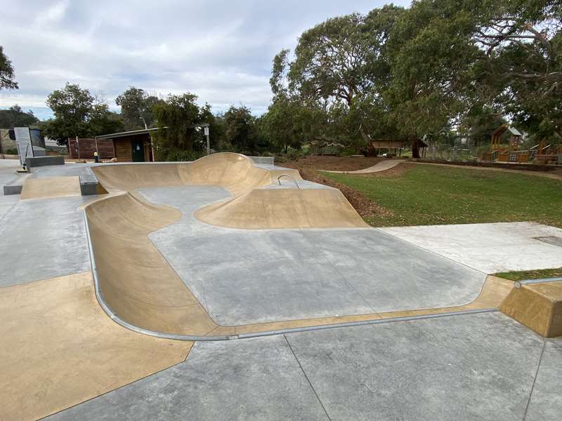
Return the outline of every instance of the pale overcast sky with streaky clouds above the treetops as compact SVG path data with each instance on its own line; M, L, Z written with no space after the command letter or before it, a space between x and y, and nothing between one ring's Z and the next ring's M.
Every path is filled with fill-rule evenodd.
M132 85L159 95L190 91L215 112L242 102L261 114L276 53L294 48L304 30L327 18L385 3L0 0L0 45L20 85L0 91L0 108L17 103L48 118L46 95L69 81L101 93L113 109Z

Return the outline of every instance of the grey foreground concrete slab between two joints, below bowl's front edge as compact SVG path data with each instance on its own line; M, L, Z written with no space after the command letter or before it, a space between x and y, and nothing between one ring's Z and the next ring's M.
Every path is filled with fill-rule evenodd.
M332 420L523 420L542 350L499 313L287 339Z

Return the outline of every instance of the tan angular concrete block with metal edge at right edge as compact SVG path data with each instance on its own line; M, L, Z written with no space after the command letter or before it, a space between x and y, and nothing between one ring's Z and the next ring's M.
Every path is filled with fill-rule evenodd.
M562 336L562 282L523 284L499 309L545 338Z

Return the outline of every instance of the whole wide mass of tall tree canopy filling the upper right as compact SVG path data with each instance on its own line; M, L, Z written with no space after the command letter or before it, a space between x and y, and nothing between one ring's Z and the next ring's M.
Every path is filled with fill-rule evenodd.
M263 120L275 142L298 144L311 138L292 123L299 107L319 110L313 138L410 139L414 156L425 136L481 139L506 119L560 142L561 11L560 0L419 0L328 19L275 56Z

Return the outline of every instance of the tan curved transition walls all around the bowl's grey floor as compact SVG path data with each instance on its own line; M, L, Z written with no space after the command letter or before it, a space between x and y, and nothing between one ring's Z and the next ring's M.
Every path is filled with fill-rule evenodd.
M176 265L172 265L174 268L170 265L169 259L174 260L174 258L166 256L166 253L163 255L162 248L157 248L154 239L151 241L148 236L153 232L162 232L164 227L172 224L174 226L169 228L178 232L178 235L181 234L181 226L175 224L181 223L179 221L185 218L185 215L172 206L151 203L145 199L145 196L136 192L136 189L142 189L144 194L145 190L150 191L154 187L157 189L152 189L152 191L158 192L162 191L164 187L176 187L176 190L171 192L190 194L193 192L190 188L193 187L188 186L209 186L209 188L213 186L214 189L222 187L230 192L232 195L230 198L210 204L207 200L193 212L200 221L220 227L244 228L247 229L247 232L256 232L256 234L263 233L263 229L267 233L267 229L273 228L339 227L357 229L359 227L363 229L358 232L380 236L377 239L383 243L395 240L388 239L389 236L378 230L365 228L367 227L365 222L355 213L339 190L313 185L313 183L307 184L296 171L290 173L295 182L283 180L282 185L278 185L277 177L287 173L285 169L259 168L247 157L238 154L214 154L192 163L96 166L93 167L93 171L103 187L110 192L109 196L93 201L84 208L91 242L93 274L96 279L98 300L106 312L118 323L142 333L183 340L218 340L273 330L486 309L497 307L511 288L510 283L497 279L488 279L483 286L485 275L460 265L457 267L455 263L447 260L438 260L436 266L441 265L441 267L431 267L435 265L435 257L428 253L426 258L429 259L429 263L424 262L424 264L429 266L420 269L421 272L424 272L424 276L429 276L428 271L436 271L434 273L438 279L443 276L451 276L449 274L451 270L457 271L456 276L462 279L461 284L464 282L464 286L459 289L460 287L455 285L455 276L453 276L452 283L445 282L446 297L440 300L430 299L429 305L425 307L405 304L402 305L403 309L398 309L399 311L380 312L374 309L372 304L365 305L366 299L362 297L362 294L352 291L362 304L358 305L356 301L355 304L352 303L355 310L348 315L341 315L341 311L346 312L346 309L341 310L338 307L339 309L336 310L319 312L318 315L314 311L305 312L304 316L296 312L292 317L273 317L258 323L236 323L235 320L234 324L223 326L209 315L207 299L197 294L197 291L195 294L192 293L192 286L186 281L185 276L178 276L174 270ZM299 188L296 188L295 183ZM177 189L181 186L185 186L184 188L187 190ZM213 202L216 199L210 201ZM202 222L197 222L201 225L200 229L211 229L209 225L207 225L209 228L204 228L206 224L202 224ZM223 228L217 227L216 229ZM240 233L243 232L244 230L240 231ZM291 230L281 230L280 233L282 232L299 233L299 231ZM275 230L270 233L275 233ZM315 229L311 230L311 234L315 238L318 237L318 241L325 233L325 230L320 232ZM328 235L330 235L329 233L330 231L327 231ZM334 239L340 234L348 235L346 231L337 230L333 234ZM353 235L353 233L351 234ZM344 237L341 238L344 239ZM193 239L193 241L199 240ZM347 238L345 241L349 241L349 239ZM362 240L358 236L355 241ZM405 261L408 259L408 253L412 253L412 251L426 253L414 248L409 250L410 246L407 244L400 243L400 241L398 243L398 248L406 253ZM185 243L184 245L189 246ZM193 243L192 246L197 248L196 243ZM384 250L384 244L379 246L381 250ZM246 247L244 241L240 241L240 247ZM332 251L336 251L336 249ZM323 253L329 253L329 250ZM181 259L187 258L188 256L182 256ZM320 265L323 265L324 261L325 258L322 255ZM290 261L287 262L287 265L291 264ZM407 264L405 263L405 265ZM204 266L215 267L216 265ZM335 270L339 273L342 270L345 272L347 269L340 267ZM400 270L396 273L397 276L400 276ZM230 272L227 276L235 276L235 274ZM287 281L294 283L292 279L287 279ZM341 281L346 283L344 278L341 278ZM417 282L416 279L412 281ZM438 284L438 281L435 282ZM230 288L235 293L240 288L251 287L237 286L233 281ZM268 287L262 286L262 288ZM304 288L310 288L310 286L306 285ZM322 286L320 283L314 288L320 289L313 290L311 293L324 300L322 288L328 288L328 284ZM412 289L414 294L416 288L419 287L414 286ZM431 286L422 286L419 293L429 296L433 294ZM455 296L455 293L458 296ZM275 300L282 305L280 302L282 298L275 298ZM405 300L405 302L408 301ZM445 305L441 305L442 303ZM293 303L289 302L287 305L291 307ZM394 309L394 307L388 308ZM226 311L228 312L230 309L226 309ZM325 316L325 314L332 314L332 316ZM227 320L230 319L227 318ZM246 319L242 318L242 320ZM254 321L251 318L248 320Z

